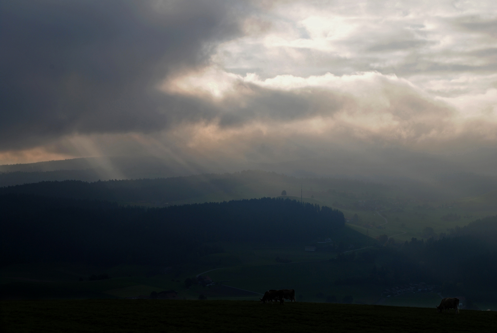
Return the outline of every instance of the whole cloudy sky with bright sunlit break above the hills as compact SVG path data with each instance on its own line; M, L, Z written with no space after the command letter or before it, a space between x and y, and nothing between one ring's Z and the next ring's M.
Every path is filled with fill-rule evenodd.
M496 175L496 1L2 0L0 31L0 164Z

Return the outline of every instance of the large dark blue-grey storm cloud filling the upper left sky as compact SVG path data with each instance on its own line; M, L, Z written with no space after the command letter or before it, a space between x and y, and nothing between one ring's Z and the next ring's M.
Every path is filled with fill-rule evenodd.
M159 92L238 31L222 1L2 1L0 149L78 132L164 128Z

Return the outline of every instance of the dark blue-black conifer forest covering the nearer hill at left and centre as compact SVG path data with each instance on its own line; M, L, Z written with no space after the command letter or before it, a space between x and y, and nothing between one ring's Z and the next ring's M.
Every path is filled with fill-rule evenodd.
M221 251L212 242L333 237L343 214L283 199L167 208L7 194L0 196L1 264L74 261L170 265Z

